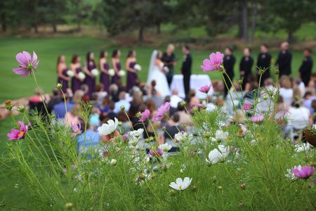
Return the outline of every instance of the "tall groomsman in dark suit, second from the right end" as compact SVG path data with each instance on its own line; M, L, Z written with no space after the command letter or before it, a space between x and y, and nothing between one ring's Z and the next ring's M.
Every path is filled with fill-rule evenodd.
M289 51L289 43L284 41L281 44L281 51L277 57L277 63L275 63L279 67L279 77L291 74L291 60L292 53Z

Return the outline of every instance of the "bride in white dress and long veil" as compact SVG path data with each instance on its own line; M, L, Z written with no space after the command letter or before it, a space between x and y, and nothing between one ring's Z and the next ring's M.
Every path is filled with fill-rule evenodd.
M164 63L162 62L162 52L154 50L152 58L150 59L150 67L148 72L147 84L151 84L154 80L156 82L155 89L159 91L162 96L170 96L166 75L164 74Z

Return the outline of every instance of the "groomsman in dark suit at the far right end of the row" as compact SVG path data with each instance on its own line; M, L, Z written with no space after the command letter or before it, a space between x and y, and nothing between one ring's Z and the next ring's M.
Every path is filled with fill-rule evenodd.
M310 82L310 75L312 74L312 57L310 56L310 54L312 53L312 50L304 49L303 53L304 53L303 62L298 72L302 79L302 82L305 84L305 87L307 87L308 82Z

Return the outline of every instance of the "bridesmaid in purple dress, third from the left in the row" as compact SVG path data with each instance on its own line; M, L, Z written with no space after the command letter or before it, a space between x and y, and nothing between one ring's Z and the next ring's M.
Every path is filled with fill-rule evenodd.
M84 73L86 73L85 84L88 85L88 95L91 96L96 89L96 77L91 74L91 70L96 69L96 63L94 61L94 54L88 52L86 54L86 63L84 64Z

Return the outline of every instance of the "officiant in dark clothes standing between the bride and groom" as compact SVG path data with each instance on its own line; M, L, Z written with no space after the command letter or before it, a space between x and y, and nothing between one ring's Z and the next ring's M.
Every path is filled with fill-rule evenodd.
M173 79L174 75L174 65L176 65L176 55L173 53L175 47L173 44L169 44L166 52L162 55L162 62L164 63L164 66L168 68L168 72L166 72L166 78L170 87L170 84Z

